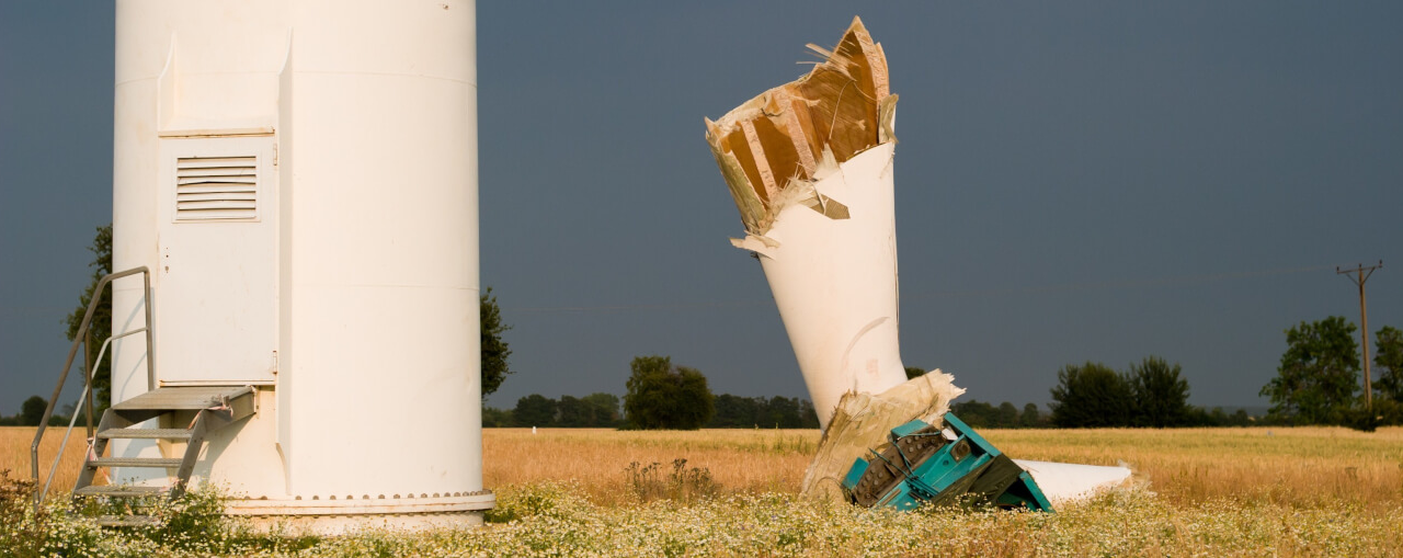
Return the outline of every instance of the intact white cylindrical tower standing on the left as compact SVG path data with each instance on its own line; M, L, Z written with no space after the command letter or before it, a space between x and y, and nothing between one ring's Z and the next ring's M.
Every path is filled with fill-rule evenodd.
M316 501L310 516L365 517L354 502L382 495L380 515L427 513L411 495L491 506L474 4L122 0L116 21L114 265L157 271L157 379L272 387L196 471L264 508ZM255 157L255 215L177 216L178 153ZM139 285L118 285L122 325ZM115 400L146 390L129 343Z

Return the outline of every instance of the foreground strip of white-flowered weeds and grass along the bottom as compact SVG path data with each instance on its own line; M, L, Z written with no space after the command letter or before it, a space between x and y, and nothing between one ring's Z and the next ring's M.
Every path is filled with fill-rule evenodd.
M201 498L196 494L196 498ZM3 502L0 502L3 505ZM191 506L198 508L198 506ZM0 555L70 557L1389 557L1403 509L1294 509L1212 501L1174 506L1145 491L1101 495L1058 513L919 509L911 513L728 495L600 506L571 482L511 486L508 523L342 537L257 536L199 509L181 529L101 530L73 515L0 522ZM38 531L25 530L38 526ZM21 540L20 537L25 537ZM20 547L29 543L32 547Z

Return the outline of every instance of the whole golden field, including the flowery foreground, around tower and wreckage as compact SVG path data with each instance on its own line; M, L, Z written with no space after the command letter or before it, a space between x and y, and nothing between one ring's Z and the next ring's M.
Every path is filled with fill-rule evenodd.
M484 529L309 541L229 524L123 534L69 516L32 545L41 555L1403 555L1400 428L981 433L1016 458L1124 461L1138 488L1056 513L867 510L796 496L817 430L487 429L484 481L498 506ZM31 437L0 429L0 468L11 478L28 475ZM45 454L56 446L58 436L46 440ZM81 442L69 451L63 489ZM686 464L675 468L678 460ZM640 472L652 463L652 477ZM683 484L697 489L665 486L676 471L690 471ZM662 489L648 492L648 482ZM0 538L15 533L35 529L0 517ZM86 550L70 551L70 540Z

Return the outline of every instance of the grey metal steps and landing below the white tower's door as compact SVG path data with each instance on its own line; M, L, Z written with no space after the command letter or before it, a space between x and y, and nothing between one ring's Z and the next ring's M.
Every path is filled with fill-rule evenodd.
M122 401L102 414L91 450L83 463L83 472L73 488L73 498L152 498L174 501L185 494L189 475L199 460L205 436L257 412L257 393L248 386L163 387ZM194 415L192 418L189 418ZM157 426L137 428L156 419ZM188 421L188 422L187 422ZM181 428L180 422L185 422ZM174 426L174 428L171 428ZM114 439L147 439L184 443L182 457L102 457ZM163 449L164 450L164 449ZM167 451L163 451L166 454ZM170 451L174 453L174 451ZM161 468L171 477L166 486L129 486L112 484L94 486L93 479L102 467ZM170 474L174 470L174 474ZM130 509L132 506L126 506ZM142 515L100 516L98 524L111 527L154 524L156 519Z

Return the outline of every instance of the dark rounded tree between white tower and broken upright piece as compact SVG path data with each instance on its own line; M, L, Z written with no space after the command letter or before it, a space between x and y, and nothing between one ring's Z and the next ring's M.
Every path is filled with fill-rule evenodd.
M716 414L716 398L696 369L672 366L668 356L638 356L629 366L623 407L631 426L694 430Z

